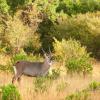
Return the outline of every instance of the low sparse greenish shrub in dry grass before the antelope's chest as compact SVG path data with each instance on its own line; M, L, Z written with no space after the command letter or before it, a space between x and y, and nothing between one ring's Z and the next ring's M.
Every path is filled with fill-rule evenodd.
M52 82L60 76L59 69L53 69L52 74L47 74L47 76L37 77L34 84L35 84L35 91L36 92L45 92L51 86Z

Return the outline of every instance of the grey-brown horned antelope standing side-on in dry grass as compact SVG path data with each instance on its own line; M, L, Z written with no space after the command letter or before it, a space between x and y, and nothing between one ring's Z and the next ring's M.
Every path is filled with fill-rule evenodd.
M13 66L15 74L12 78L12 83L14 83L15 80L20 81L20 77L23 74L37 77L44 76L48 73L49 68L51 66L51 51L49 49L49 55L47 55L43 49L42 51L45 57L43 62L18 61Z

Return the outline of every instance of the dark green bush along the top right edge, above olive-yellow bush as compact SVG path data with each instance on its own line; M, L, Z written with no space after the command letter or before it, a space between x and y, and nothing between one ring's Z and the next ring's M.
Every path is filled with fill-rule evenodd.
M68 15L95 12L100 10L100 1L97 0L61 0L57 12L63 11Z

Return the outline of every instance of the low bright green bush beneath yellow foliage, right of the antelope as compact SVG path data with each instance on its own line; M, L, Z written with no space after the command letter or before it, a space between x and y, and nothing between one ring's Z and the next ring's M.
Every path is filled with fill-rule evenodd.
M82 72L84 76L86 75L86 73L91 73L92 67L91 64L88 62L88 59L89 58L86 59L84 57L79 59L76 58L69 59L66 62L66 67L68 72L69 73L77 72L78 74Z

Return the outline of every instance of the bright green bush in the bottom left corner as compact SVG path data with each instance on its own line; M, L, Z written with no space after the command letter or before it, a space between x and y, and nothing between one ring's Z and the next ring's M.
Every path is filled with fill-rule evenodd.
M2 100L21 100L21 97L14 85L7 85L2 87Z

